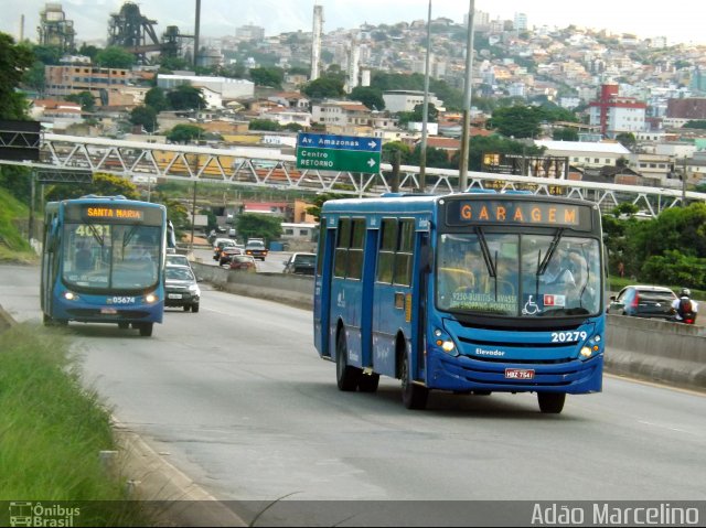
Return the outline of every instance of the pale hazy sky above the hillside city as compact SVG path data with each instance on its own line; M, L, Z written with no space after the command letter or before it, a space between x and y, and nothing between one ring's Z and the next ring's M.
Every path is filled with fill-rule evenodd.
M56 0L54 0L56 1ZM133 0L149 19L157 20L157 34L168 25L178 25L181 33L192 33L195 0ZM24 14L24 35L36 40L36 28L44 0L0 0L0 31L15 39L20 35L20 19ZM64 0L66 18L74 21L76 40L92 42L107 36L110 13L117 13L122 0ZM394 24L425 20L429 0L318 0L323 6L324 32L339 28L352 29L362 23ZM470 1L431 0L431 17L446 17L463 22ZM246 24L265 28L266 35L288 31L311 31L314 0L201 0L201 35L220 37L234 35ZM668 44L706 45L703 20L704 0L670 0L657 3L644 0L475 0L475 9L490 14L491 20L527 15L530 26L569 24L606 29L613 33L633 33L640 37L666 36Z

